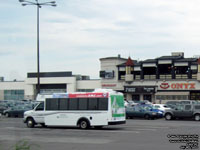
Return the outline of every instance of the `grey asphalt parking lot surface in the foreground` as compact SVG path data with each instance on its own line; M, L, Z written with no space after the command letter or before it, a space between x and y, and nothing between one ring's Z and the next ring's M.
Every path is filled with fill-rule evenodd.
M191 147L180 137L193 137ZM189 120L127 120L103 129L27 128L22 118L0 118L0 150L27 142L31 150L179 150L199 149L200 122ZM172 141L174 140L174 141ZM177 142L179 140L179 142ZM195 147L196 146L196 147ZM29 149L28 149L29 150Z

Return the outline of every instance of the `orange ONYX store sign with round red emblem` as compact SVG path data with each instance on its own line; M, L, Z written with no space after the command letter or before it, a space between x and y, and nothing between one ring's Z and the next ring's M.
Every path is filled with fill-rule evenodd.
M161 89L173 89L173 90L191 90L195 89L195 83L161 83Z

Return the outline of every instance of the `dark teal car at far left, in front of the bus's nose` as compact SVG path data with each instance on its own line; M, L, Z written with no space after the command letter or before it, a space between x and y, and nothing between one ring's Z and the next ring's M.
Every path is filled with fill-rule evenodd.
M7 110L4 110L3 111L3 115L6 116L6 117L24 117L24 112L25 111L28 111L28 110L31 110L32 107L29 107L29 106L16 106L16 107L12 107L12 108L9 108Z

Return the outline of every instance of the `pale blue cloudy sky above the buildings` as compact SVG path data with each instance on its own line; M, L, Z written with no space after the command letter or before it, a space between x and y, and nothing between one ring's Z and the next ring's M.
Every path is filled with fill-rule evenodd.
M31 0L30 0L31 1ZM34 2L34 0L32 0ZM39 2L47 2L39 0ZM99 78L100 58L200 55L199 0L56 0L40 9L40 71ZM37 71L36 7L0 3L0 76Z

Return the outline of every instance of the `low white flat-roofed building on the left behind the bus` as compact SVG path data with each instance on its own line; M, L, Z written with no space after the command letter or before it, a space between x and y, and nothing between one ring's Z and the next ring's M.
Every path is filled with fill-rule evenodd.
M36 98L37 73L28 73L25 81L0 82L0 100ZM40 93L86 92L100 88L100 80L72 72L41 72Z

